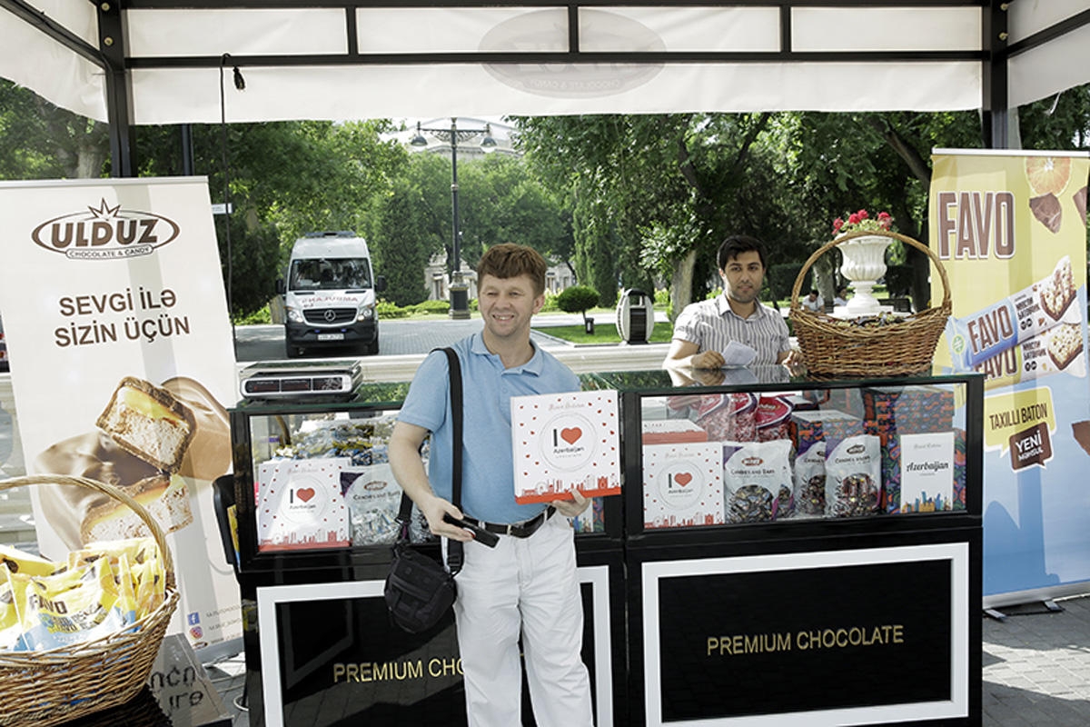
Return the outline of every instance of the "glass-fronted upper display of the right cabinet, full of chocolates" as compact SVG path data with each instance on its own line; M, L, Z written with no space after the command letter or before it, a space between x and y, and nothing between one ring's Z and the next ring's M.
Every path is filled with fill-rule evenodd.
M642 397L643 526L964 510L965 397L941 380Z

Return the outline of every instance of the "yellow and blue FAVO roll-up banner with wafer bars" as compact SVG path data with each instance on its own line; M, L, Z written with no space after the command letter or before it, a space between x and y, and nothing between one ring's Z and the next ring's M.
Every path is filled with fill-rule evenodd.
M935 362L985 376L985 604L1049 597L1090 580L1090 155L932 161L930 243L953 303Z

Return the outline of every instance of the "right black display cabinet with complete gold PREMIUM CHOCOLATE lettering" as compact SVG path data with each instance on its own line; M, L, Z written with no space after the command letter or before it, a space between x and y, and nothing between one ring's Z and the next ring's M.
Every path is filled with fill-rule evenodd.
M630 724L979 725L980 377L718 377L598 375L623 416ZM841 492L819 508L820 438ZM944 488L903 493L921 472Z

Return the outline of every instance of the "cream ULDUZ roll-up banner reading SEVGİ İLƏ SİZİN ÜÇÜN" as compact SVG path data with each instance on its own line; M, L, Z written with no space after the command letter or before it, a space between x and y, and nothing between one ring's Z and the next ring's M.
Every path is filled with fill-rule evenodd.
M0 310L28 474L123 488L168 532L197 650L242 634L210 483L231 469L232 334L204 178L0 182ZM55 560L142 526L119 500L32 488ZM145 529L146 531L146 529Z

